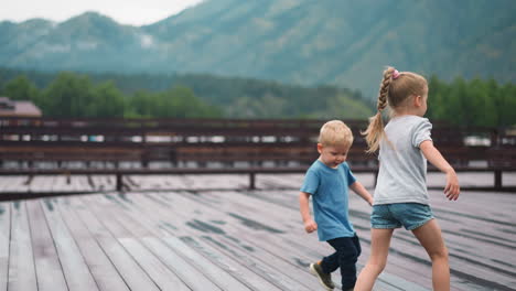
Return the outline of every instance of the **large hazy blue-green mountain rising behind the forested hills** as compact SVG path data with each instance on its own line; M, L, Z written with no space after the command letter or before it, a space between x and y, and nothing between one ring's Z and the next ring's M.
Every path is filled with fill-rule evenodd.
M0 63L334 84L374 98L381 71L516 80L514 0L206 0L151 25L97 13L0 23Z

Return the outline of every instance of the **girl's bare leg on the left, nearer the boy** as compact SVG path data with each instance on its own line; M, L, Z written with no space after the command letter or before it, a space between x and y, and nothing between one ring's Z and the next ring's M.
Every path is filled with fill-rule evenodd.
M393 231L394 229L370 229L370 256L356 280L355 291L373 289L376 278L381 273L385 265L387 263L387 255L389 252Z

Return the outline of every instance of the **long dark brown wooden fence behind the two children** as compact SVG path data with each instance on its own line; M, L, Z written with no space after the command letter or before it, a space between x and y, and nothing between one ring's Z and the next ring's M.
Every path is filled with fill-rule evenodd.
M348 163L377 172L359 134L363 120L344 120L354 133ZM318 158L324 120L0 118L0 174L299 173ZM516 134L508 129L434 123L432 139L456 171L516 171ZM430 169L434 171L434 169Z

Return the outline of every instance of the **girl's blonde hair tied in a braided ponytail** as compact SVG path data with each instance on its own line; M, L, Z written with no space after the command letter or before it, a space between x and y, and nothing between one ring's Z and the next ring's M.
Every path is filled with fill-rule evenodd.
M384 120L381 111L387 105L396 111L396 108L406 105L410 96L423 96L428 89L427 79L411 72L398 72L394 67L384 71L377 103L377 114L369 118L369 126L362 132L367 141L367 152L376 152L379 142L384 138Z

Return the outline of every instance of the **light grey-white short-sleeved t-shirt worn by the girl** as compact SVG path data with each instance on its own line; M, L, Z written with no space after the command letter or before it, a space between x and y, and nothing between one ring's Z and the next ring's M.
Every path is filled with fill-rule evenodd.
M419 146L431 139L432 123L419 116L393 118L379 146L379 173L375 205L391 203L429 204L427 159Z

